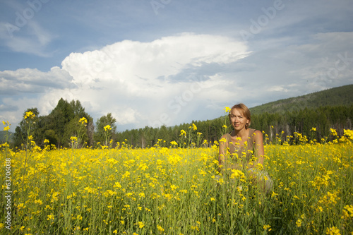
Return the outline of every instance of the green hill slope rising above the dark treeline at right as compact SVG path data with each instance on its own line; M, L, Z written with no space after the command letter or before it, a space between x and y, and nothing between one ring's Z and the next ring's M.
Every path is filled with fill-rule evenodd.
M353 85L331 88L308 95L301 95L285 100L277 100L250 109L251 114L270 114L293 112L301 109L313 109L322 106L350 106L353 104Z

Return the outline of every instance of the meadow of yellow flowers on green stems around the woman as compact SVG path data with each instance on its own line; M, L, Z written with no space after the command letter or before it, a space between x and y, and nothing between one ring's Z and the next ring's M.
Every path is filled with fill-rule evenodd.
M29 139L17 151L5 143L0 233L352 235L353 131L332 130L321 143L293 138L297 145L265 138L268 193L246 174L221 174L217 142L93 149L72 138L71 148L40 149Z

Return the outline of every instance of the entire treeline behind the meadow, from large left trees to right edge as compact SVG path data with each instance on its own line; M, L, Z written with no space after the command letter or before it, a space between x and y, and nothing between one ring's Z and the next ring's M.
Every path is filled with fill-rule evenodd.
M116 147L118 142L120 145L125 143L142 148L151 147L157 143L169 147L172 141L179 145L183 143L187 145L189 143L185 141L196 143L196 138L207 140L208 144L212 144L215 140L219 140L223 133L232 131L227 116L221 116L213 120L182 123L179 126L160 128L145 126L145 128L116 132L116 119L112 114L102 116L94 123L80 102L75 100L71 102L59 100L55 109L47 116L40 116L37 108L27 109L23 116L27 112L35 114L35 117L30 120L30 132L28 133L29 120L23 119L16 127L12 138L14 147L23 147L25 140L28 140L28 135L31 135L32 141L40 147L44 147L44 140L49 140L49 144L56 147L71 147L73 136L78 138L76 142L78 147L100 147L101 145ZM285 140L287 135L298 132L320 142L321 138L330 134L330 128L335 128L338 135L343 135L344 129L352 129L352 119L352 104L340 107L325 106L284 114L268 112L254 114L251 116L251 128L264 131L264 137L268 137L268 141L274 141L276 136ZM312 128L316 128L316 131L312 131ZM188 136L181 136L181 130L186 131ZM185 140L181 141L182 138ZM200 141L197 143L202 144Z

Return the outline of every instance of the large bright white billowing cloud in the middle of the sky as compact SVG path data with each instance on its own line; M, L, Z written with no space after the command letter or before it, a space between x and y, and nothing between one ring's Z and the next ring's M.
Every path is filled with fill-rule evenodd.
M195 102L201 90L215 87L212 83L218 81L211 76L217 70L210 72L210 66L220 69L248 55L243 42L229 37L184 33L73 53L61 65L95 111L112 112L123 124L143 121L157 126L176 121L181 107L186 110L186 103Z

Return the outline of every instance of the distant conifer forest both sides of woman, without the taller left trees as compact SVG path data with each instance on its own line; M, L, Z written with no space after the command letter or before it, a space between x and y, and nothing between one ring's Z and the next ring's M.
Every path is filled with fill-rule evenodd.
M316 109L302 109L300 111L285 112L285 114L257 114L251 116L251 128L264 131L268 137L268 142L275 141L276 136L283 141L287 136L294 135L294 132L306 135L308 138L316 139L330 135L330 128L334 128L338 135L343 135L344 129L352 129L353 105L340 107L318 107ZM202 133L203 140L214 143L220 140L223 133L232 131L227 116L207 121L193 121L197 126L197 132ZM192 123L183 123L179 126L161 128L140 128L124 131L116 135L119 142L128 141L134 147L153 146L158 139L165 140L165 145L169 146L171 141L178 143L180 132L186 132L192 128ZM227 128L223 128L227 125ZM316 131L312 131L316 128ZM196 133L197 134L197 133ZM264 136L264 138L266 137Z

